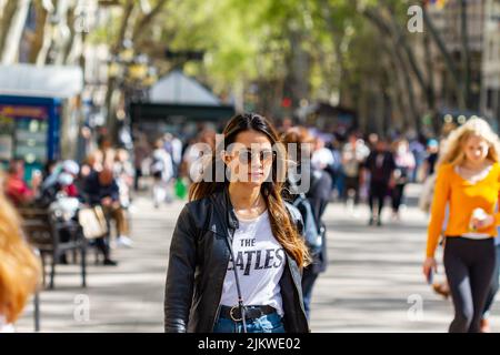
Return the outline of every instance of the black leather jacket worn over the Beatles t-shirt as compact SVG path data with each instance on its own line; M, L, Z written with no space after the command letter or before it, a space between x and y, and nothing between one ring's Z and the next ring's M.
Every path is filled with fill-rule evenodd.
M302 217L287 203L289 214L302 230ZM228 237L238 227L227 189L189 202L179 215L170 245L164 295L164 329L168 333L211 333L230 261ZM283 324L288 333L309 332L302 302L301 272L287 254L280 281Z

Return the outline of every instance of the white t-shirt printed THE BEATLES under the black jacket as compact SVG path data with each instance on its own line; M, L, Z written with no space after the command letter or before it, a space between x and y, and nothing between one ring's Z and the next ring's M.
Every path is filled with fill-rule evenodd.
M268 211L252 221L239 220L232 248L244 305L269 305L282 316L280 280L287 260L283 247L272 234ZM238 305L231 261L228 264L220 304Z

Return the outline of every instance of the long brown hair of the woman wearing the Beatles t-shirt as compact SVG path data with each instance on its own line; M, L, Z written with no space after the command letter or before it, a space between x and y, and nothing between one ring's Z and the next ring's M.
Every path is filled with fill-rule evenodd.
M223 130L223 146L217 146L212 152L211 160L208 163L207 172L216 175L216 168L223 166L220 152L226 150L230 144L236 142L237 135L244 131L257 131L268 136L274 149L282 149L280 140L272 124L263 116L254 113L237 114L233 116ZM300 236L296 225L291 223L287 207L282 200L281 193L283 189L284 176L287 171L287 160L283 151L278 152L277 158L272 162L272 179L266 181L261 185L261 194L269 210L269 220L271 222L272 234L277 241L283 246L300 267L306 266L310 262L308 247L303 239ZM222 191L229 181L224 174L223 182L199 181L191 185L189 190L189 200L200 200L207 197L218 191Z

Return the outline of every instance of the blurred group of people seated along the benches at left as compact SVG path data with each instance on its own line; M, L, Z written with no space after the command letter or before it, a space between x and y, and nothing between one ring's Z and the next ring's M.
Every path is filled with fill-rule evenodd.
M124 150L114 150L109 140L101 139L99 149L86 161L49 162L43 172L34 170L27 176L24 162L13 160L4 176L7 199L17 207L41 209L73 206L72 217L78 223L78 211L99 205L109 222L114 221L117 246L131 246L127 210L133 185L133 166ZM74 203L77 202L77 203ZM110 235L92 241L102 253L103 265L116 265L110 256ZM62 257L66 263L66 257Z

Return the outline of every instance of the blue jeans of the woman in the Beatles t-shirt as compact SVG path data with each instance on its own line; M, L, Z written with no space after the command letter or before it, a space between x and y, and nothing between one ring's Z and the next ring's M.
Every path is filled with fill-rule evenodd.
M231 318L219 317L213 333L243 333L243 324L236 323ZM274 312L257 320L247 320L247 333L284 333L282 318Z

